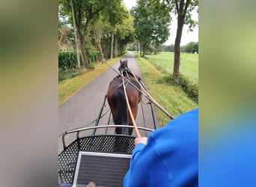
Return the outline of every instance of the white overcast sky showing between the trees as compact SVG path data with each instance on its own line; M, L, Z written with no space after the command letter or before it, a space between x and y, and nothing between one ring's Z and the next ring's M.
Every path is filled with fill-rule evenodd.
M136 0L123 0L124 4L126 5L127 9L130 10L132 6L136 5ZM193 18L195 20L198 20L197 13L193 14ZM186 43L189 42L198 42L198 26L194 28L194 31L188 32L188 25L183 26L183 33L181 37L180 46L186 45ZM172 21L170 25L170 36L168 37L168 40L165 42L165 45L171 45L175 42L176 37L176 30L177 30L177 18L176 16L172 16Z

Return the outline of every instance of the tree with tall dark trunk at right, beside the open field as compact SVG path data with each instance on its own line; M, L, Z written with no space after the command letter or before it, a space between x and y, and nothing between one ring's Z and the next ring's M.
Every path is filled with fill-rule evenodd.
M174 43L174 71L175 79L179 78L180 74L180 41L182 37L183 25L188 24L189 30L195 27L198 22L192 19L192 10L198 7L198 0L167 0L171 5L171 13L177 15L177 33Z

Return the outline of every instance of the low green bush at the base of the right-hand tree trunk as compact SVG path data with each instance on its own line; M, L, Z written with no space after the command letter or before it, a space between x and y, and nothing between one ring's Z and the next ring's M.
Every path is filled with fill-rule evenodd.
M192 83L188 78L181 75L179 79L174 79L174 76L164 76L159 82L167 82L171 85L180 86L190 99L198 103L198 85Z

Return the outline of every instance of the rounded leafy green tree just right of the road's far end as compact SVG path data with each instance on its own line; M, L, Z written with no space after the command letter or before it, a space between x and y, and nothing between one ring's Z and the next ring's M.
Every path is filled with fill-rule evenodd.
M169 7L161 0L138 0L132 7L135 38L139 41L144 57L147 46L165 43L169 36L171 21Z

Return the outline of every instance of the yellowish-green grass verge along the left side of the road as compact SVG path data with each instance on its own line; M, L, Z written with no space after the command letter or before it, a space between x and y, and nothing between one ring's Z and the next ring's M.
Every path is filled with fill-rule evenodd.
M122 57L114 58L112 61L108 61L108 64L113 65L120 61ZM79 91L108 68L106 64L99 63L95 65L93 70L85 69L82 75L60 82L58 84L58 105L61 105L68 97Z

